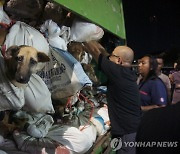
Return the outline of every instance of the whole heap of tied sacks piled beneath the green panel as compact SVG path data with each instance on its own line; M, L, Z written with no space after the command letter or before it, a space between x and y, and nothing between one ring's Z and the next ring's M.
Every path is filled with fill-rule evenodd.
M27 1L27 3L29 2ZM39 0L33 0L33 2L40 4L40 6L36 6L38 7L37 11L41 14L44 2ZM21 6L22 3L24 2L19 1L16 6ZM21 12L17 9L18 7L8 10L8 7L12 5L14 4L11 0L5 5L6 10L12 15L11 17L13 14L20 13L21 17L24 15L28 17L28 20L34 19L37 22L37 18L34 18L37 17L37 12L29 15L26 9ZM0 111L18 110L13 116L16 126L19 125L19 122L21 123L19 131L13 133L18 149L30 153L41 153L42 150L47 153L55 153L57 146L62 146L75 153L87 152L97 136L103 135L109 129L109 119L107 106L98 108L94 112L94 105L90 105L86 99L79 100L79 92L84 87L92 87L92 81L93 83L97 82L94 69L90 65L92 57L85 52L82 42L99 40L104 34L103 30L94 24L79 20L75 20L71 28L59 27L54 21L47 20L42 24L41 32L39 32L26 24L26 20L12 22L2 7L0 22L9 27L8 33L3 33L4 37L1 41L6 49L12 45L26 45L43 52L50 58L49 62L37 64L29 82L24 87L0 78L3 83L0 84L0 90L3 92L1 96L8 98L8 102L5 102L6 105L10 104L8 107L0 106ZM78 55L76 45L82 47L80 49L81 56ZM73 48L75 48L74 53ZM0 66L1 71L4 72L3 76L6 78L3 55L1 55ZM85 72L90 73L87 75ZM93 73L94 75L92 75ZM9 89L4 91L4 87L6 87L4 85L8 85ZM72 98L74 95L75 97L77 95L78 98L71 99L70 102L73 101L76 105L73 108L64 107L66 112L69 109L68 121L70 122L62 125L62 123L57 124L56 121L55 124L54 116L52 116L55 111L51 98L59 101L64 98ZM15 98L18 101L14 101ZM96 103L94 102L94 104ZM63 116L66 117L66 114ZM2 148L3 143L0 146Z

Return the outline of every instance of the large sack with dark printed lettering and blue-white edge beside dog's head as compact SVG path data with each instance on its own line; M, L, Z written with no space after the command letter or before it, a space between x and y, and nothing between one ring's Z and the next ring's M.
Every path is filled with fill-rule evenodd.
M74 95L92 82L81 64L67 51L50 47L50 61L38 72L49 88L52 98L59 99Z

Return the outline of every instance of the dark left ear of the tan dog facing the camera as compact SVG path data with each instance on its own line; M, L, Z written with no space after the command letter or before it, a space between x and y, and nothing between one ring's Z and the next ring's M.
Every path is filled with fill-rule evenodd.
M14 55L17 55L17 53L19 52L20 47L17 45L11 46L9 47L4 55L5 59L11 59Z

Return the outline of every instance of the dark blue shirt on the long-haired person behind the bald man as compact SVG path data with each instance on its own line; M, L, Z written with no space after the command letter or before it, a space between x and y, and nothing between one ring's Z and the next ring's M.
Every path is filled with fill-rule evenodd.
M167 104L167 90L159 78L140 82L139 91L142 106Z

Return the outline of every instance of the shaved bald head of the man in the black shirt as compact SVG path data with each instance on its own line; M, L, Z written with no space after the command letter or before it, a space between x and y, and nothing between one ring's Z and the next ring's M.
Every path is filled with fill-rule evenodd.
M130 64L134 59L134 52L131 48L127 46L117 46L112 55L119 56L122 60L122 64Z

